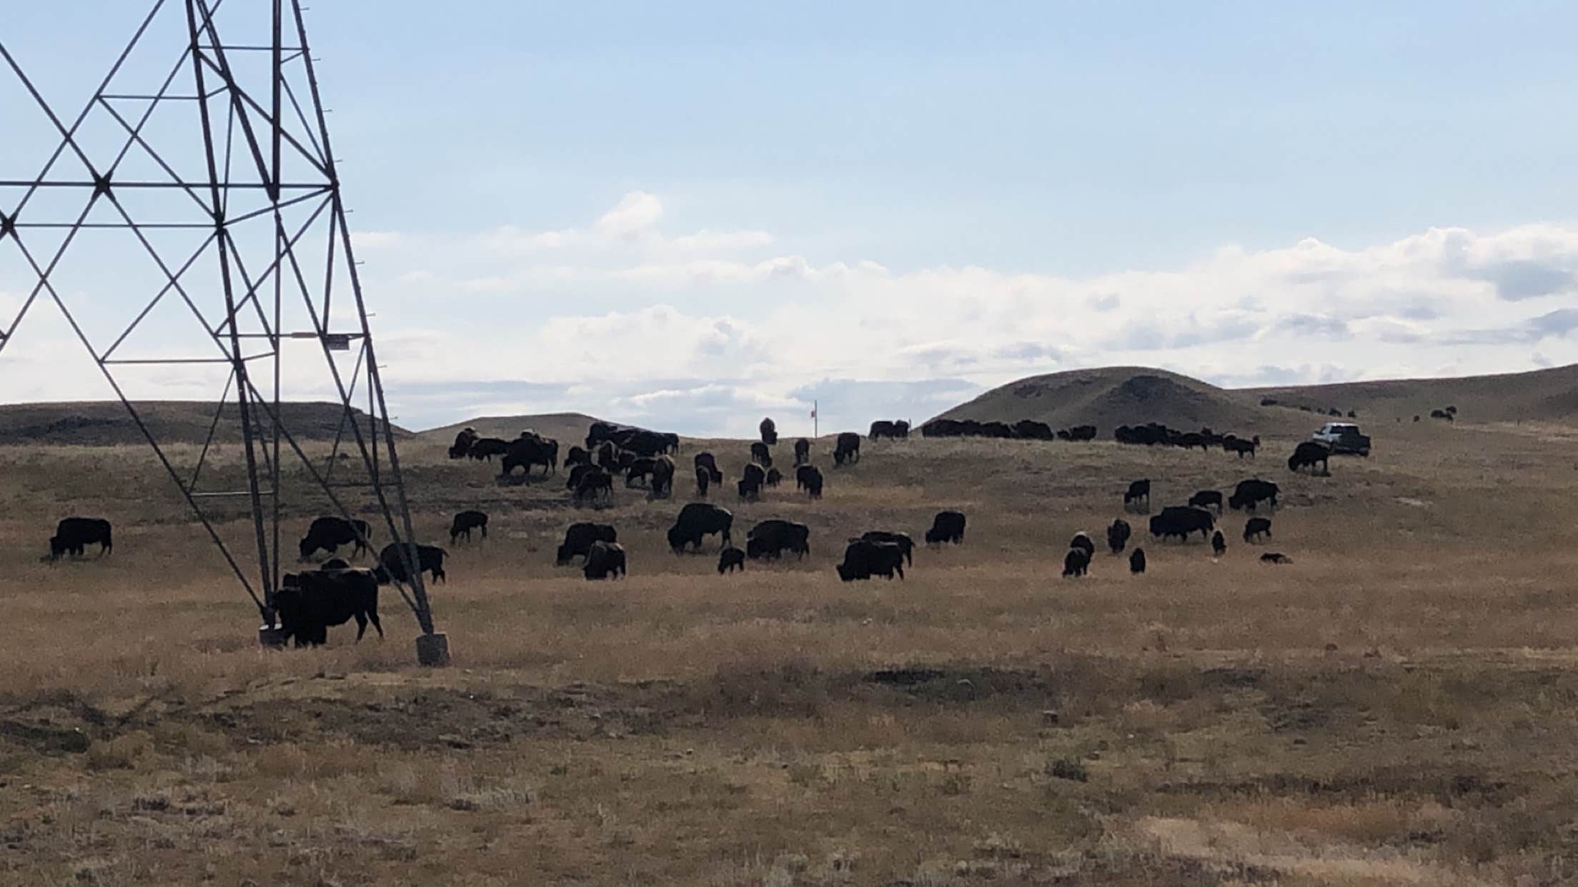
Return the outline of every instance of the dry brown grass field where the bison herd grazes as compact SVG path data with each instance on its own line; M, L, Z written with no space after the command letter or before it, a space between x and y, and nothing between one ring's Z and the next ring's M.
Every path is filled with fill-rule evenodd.
M492 513L447 546L442 671L394 595L383 641L257 649L142 450L0 448L0 882L1570 882L1578 429L1370 431L1313 478L1291 437L1259 462L917 439L849 469L824 440L822 502L715 492L737 538L810 524L811 557L721 578L663 543L688 481L620 488L630 578L603 584L551 565L584 515L559 478L499 486L417 437L424 535ZM682 462L701 447L737 477L745 442ZM1144 576L1103 551L1057 578L1128 480L1160 508L1255 472L1284 491L1272 543L1229 511L1220 562L1142 538ZM944 507L963 546L838 582L847 535ZM115 521L115 552L39 563L68 513Z

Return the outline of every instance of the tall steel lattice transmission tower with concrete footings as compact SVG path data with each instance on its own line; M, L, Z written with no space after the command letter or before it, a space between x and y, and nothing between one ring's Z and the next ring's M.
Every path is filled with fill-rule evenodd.
M300 0L155 2L71 115L5 39L0 60L0 85L14 77L38 112L5 128L36 126L55 145L25 158L36 166L24 175L0 169L0 259L21 256L28 278L21 308L0 317L0 352L32 309L60 309L265 623L281 548L295 559L294 533L281 532L301 522L294 502L376 511L374 535L413 541ZM110 292L95 292L92 308L58 283L73 267L117 262L128 271L101 275ZM194 464L128 395L125 376L148 368L213 387ZM292 387L331 390L342 407L327 459L287 426ZM245 489L211 467L218 445L245 455ZM224 521L246 515L238 500L248 538L227 540L235 522ZM401 551L410 581L396 587L421 627L418 652L447 660L413 552Z

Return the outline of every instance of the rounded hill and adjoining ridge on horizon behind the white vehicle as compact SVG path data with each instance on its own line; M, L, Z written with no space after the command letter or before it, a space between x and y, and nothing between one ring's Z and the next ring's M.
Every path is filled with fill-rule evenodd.
M1267 399L1275 404L1262 406ZM1458 407L1461 421L1578 423L1578 366L1453 379L1395 379L1218 388L1199 379L1142 366L1108 366L1032 376L993 388L939 418L1040 420L1053 428L1161 421L1174 428L1307 432L1311 410L1357 412L1363 420L1428 415Z

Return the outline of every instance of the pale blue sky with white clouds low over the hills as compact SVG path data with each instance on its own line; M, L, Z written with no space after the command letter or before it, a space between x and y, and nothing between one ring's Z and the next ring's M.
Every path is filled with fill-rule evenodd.
M1084 366L1578 361L1573 5L311 6L409 428L802 434L813 401L822 431L920 421ZM28 3L0 43L80 106L144 13ZM36 123L6 76L0 122ZM38 147L0 139L0 180ZM122 259L73 254L68 300L114 314ZM35 281L0 241L0 309ZM0 399L107 396L57 314L0 350ZM136 393L200 396L204 372Z

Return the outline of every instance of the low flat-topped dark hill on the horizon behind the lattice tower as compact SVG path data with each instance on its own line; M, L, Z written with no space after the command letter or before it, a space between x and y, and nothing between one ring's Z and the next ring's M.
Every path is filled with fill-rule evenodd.
M215 404L205 401L140 401L136 409L161 444L202 444L215 415ZM341 406L330 402L286 402L281 414L298 440L331 439L342 418ZM357 410L357 417L366 423L366 414ZM410 434L399 426L394 432ZM215 434L216 440L240 440L235 404L226 404ZM115 401L0 406L0 444L114 447L144 442L126 407Z

